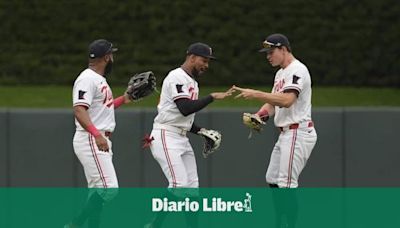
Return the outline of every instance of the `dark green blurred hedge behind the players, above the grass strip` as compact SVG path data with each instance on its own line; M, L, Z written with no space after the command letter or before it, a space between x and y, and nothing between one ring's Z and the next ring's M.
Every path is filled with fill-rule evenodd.
M166 75L190 43L218 57L203 85L269 85L275 70L257 53L286 34L316 85L400 86L400 4L362 1L1 1L0 84L70 85L87 46L119 48L110 82L152 69Z

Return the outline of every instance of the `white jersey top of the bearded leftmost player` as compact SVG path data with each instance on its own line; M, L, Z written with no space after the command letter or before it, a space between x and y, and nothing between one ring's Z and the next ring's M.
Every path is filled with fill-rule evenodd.
M73 106L88 107L93 125L100 131L114 131L114 99L106 78L91 69L81 72L72 91ZM75 118L76 130L84 130Z

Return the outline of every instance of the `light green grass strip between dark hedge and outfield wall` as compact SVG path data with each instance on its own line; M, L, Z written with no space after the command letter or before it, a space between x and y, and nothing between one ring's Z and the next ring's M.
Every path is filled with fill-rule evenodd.
M225 91L226 87L201 87L200 96L215 91ZM256 89L270 91L270 88ZM124 87L113 87L114 97L119 96ZM72 88L67 86L23 86L1 87L0 107L2 108L69 108L72 104ZM138 103L125 105L124 108L155 107L159 94L144 99ZM258 107L260 101L227 98L213 102L210 108L219 107ZM394 88L313 88L314 107L349 107L349 106L400 106L400 89Z

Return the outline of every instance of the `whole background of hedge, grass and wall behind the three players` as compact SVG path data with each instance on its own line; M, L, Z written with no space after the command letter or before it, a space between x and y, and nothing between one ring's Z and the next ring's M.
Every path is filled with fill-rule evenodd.
M396 0L0 1L0 186L85 187L72 149L72 85L91 41L119 48L108 82L114 96L129 77L165 75L189 44L218 60L199 79L202 95L232 84L269 91L274 73L257 52L271 33L288 36L313 80L319 141L303 187L400 186L400 3ZM123 187L164 187L141 138L151 131L158 94L117 110L114 165ZM190 136L203 187L264 187L273 122L252 140L242 112L262 103L226 99L198 114L222 131L221 151L204 160Z

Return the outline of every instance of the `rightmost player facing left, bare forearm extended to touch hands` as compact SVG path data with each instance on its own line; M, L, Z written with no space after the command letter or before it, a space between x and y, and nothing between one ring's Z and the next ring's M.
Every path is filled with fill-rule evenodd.
M289 40L282 34L272 34L263 42L260 52L267 53L276 72L271 93L233 86L237 97L265 102L255 114L267 119L275 115L275 125L281 134L275 144L266 180L271 187L296 188L298 178L317 142L311 119L311 77L307 67L297 60Z

